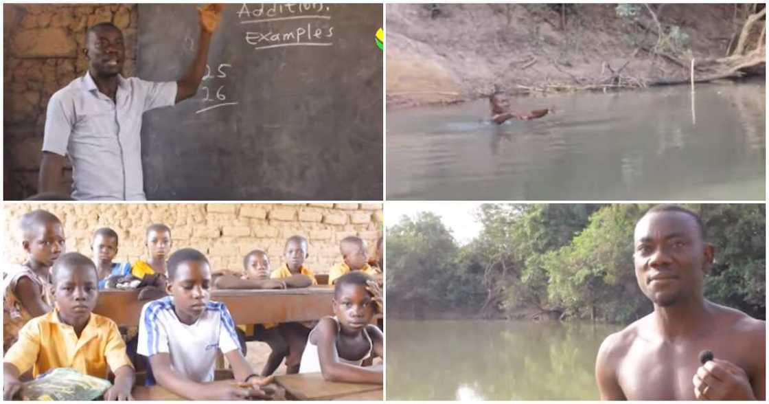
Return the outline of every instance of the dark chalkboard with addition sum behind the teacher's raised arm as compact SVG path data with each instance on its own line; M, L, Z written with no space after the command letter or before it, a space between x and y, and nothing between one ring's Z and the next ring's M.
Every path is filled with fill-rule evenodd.
M198 5L138 5L138 76L175 81ZM146 112L150 200L381 200L381 4L227 5L195 98Z

